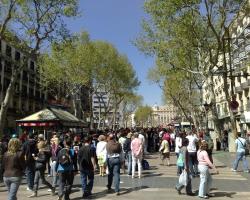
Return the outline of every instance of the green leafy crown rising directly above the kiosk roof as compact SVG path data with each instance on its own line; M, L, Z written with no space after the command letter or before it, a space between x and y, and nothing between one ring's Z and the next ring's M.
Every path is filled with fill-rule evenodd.
M96 66L94 54L95 48L86 32L53 43L51 52L41 56L38 62L43 85L64 85L68 95L75 93L75 87L91 81L92 69Z

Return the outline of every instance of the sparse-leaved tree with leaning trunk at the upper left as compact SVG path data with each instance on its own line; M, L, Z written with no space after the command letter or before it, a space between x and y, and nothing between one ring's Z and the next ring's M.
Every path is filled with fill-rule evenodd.
M12 75L0 109L0 134L18 74L27 67L28 57L36 59L42 44L65 37L63 19L77 16L78 0L10 0L0 3L0 39L26 54L20 62L11 60ZM16 38L19 39L16 39ZM5 58L4 55L0 55ZM14 67L17 66L17 67Z

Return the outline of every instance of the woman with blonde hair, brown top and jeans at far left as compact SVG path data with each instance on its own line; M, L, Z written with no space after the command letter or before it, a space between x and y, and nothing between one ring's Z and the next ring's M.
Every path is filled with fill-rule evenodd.
M12 138L3 158L3 179L8 188L8 200L17 200L16 194L25 169L25 159L22 152L19 151L20 147L21 142L17 138Z

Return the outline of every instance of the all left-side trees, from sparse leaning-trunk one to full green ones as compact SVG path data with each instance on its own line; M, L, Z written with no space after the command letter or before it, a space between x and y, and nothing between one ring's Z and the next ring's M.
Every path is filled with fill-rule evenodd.
M91 95L97 91L107 92L109 103L105 104L103 97L99 97L105 104L102 118L110 110L117 110L125 98L128 102L132 97L137 98L135 89L139 81L126 56L107 42L91 41L85 32L72 35L67 29L65 18L78 17L79 14L78 0L0 1L0 40L26 54L20 61L10 60L12 75L1 102L0 134L3 134L15 82L27 68L28 58L38 62L45 89L56 89L55 96L69 97L73 105L76 105L82 87L90 89ZM48 53L40 53L49 46ZM1 58L5 59L3 54L0 54ZM76 106L74 108L75 115L78 115L79 110Z

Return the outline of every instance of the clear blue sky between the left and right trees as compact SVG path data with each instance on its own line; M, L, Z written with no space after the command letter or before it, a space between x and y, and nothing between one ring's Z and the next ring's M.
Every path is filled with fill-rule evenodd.
M127 55L141 81L138 93L144 103L162 104L161 90L147 80L147 72L153 66L153 58L139 52L132 44L141 30L144 0L80 0L82 15L67 21L71 32L87 31L92 40L112 43L121 54Z

